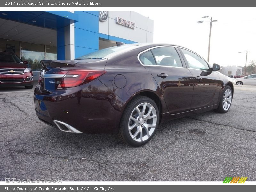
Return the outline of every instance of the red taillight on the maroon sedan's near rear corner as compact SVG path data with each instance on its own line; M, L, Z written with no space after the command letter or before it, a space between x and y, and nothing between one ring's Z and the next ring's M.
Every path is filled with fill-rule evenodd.
M106 73L106 71L98 70L71 70L71 71L58 71L56 74L65 74L58 88L76 87L81 84L88 83L99 76Z

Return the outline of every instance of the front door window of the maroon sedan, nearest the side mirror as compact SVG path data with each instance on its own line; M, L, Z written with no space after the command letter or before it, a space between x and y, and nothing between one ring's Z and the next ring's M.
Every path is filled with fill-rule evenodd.
M183 54L185 55L186 60L188 61L189 68L208 70L209 65L195 53L182 49Z

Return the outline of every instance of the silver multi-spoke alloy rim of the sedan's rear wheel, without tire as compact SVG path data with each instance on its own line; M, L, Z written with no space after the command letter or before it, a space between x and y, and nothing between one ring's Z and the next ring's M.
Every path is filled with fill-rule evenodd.
M131 138L137 142L147 140L156 128L156 109L150 103L140 103L132 111L128 129Z

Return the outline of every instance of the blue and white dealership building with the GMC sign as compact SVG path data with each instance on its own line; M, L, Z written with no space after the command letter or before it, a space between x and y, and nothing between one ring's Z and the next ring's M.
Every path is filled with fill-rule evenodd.
M0 52L38 71L40 60L72 60L116 41L153 42L153 27L133 11L0 11Z

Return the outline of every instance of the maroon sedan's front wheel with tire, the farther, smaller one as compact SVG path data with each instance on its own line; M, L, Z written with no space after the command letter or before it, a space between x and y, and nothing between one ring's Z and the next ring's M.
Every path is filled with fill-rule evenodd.
M232 98L232 89L229 85L227 85L221 94L219 106L217 109L215 109L215 111L218 113L227 113L231 107Z

